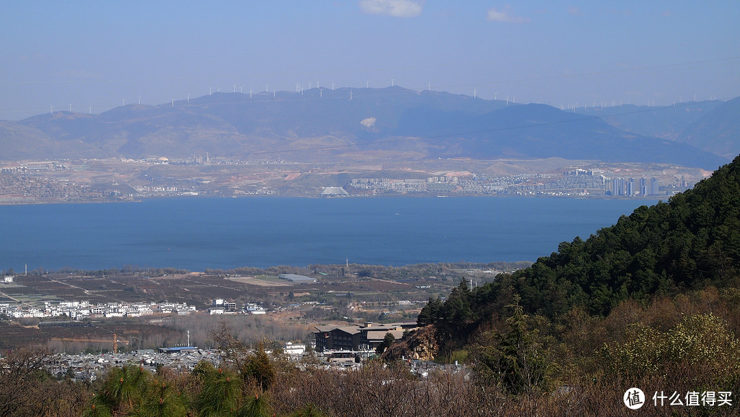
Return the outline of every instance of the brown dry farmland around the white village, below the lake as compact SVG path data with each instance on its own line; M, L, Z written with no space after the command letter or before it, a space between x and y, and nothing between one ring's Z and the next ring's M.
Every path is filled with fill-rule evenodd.
M343 266L343 265L342 265ZM332 271L336 265L317 267ZM287 267L286 267L287 268ZM323 268L323 269L322 269ZM366 271L356 265L357 271ZM0 320L0 351L21 346L46 345L56 351L80 352L112 348L112 333L129 341L121 349L157 348L182 344L186 330L198 346L212 345L212 330L227 323L245 339L264 336L278 341L305 341L314 325L333 322L412 321L420 306L430 296L444 296L460 282L452 269L440 272L438 266L418 268L374 268L376 277L332 277L317 271L298 270L264 272L269 278L255 275L226 279L226 276L204 273L161 274L151 271L98 271L97 273L56 273L44 276L16 276L13 286L3 288L8 296L27 302L66 301L107 302L186 302L198 313L141 316L138 318L86 319L87 326L62 327L39 322L64 318ZM430 270L431 268L431 270ZM103 275L103 272L106 274ZM318 282L300 284L278 280L282 273L314 277ZM233 274L233 273L232 273ZM257 274L257 273L255 273ZM431 275L438 277L431 277ZM394 279L403 280L396 282ZM423 287L423 288L420 288ZM239 307L246 302L263 303L270 312L265 316L210 316L212 300L223 298ZM399 300L412 300L417 305L399 305ZM304 304L309 302L308 304ZM292 305L300 304L299 307ZM106 342L64 342L53 338L99 339Z

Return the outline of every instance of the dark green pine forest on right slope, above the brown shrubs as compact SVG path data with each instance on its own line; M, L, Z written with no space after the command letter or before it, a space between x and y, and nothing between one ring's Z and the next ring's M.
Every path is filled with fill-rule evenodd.
M639 207L587 240L576 237L561 243L558 251L530 268L499 275L465 297L470 305L458 299L457 293L466 288L458 288L444 304L428 305L420 324L471 324L500 311L512 294L521 297L527 313L552 318L579 306L606 316L628 297L648 299L707 285L737 287L739 267L740 157L736 157L667 203Z

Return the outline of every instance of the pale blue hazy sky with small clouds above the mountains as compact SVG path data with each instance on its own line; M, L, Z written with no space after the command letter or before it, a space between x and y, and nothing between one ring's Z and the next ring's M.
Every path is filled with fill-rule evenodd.
M6 1L0 119L391 78L554 106L740 95L740 1L606 3Z

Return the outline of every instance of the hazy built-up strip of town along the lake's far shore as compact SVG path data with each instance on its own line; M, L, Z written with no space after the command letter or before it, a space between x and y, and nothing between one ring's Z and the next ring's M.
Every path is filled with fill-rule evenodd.
M398 166L242 160L206 154L180 160L25 161L0 163L0 204L250 195L656 198L684 191L708 174L665 164L566 160L557 164L441 160Z

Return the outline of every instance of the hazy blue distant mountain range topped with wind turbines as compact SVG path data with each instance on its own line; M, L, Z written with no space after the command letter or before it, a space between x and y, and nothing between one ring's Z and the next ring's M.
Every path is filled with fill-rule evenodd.
M218 92L98 115L0 122L0 160L192 155L593 159L716 169L740 153L739 99L565 111L447 92Z

